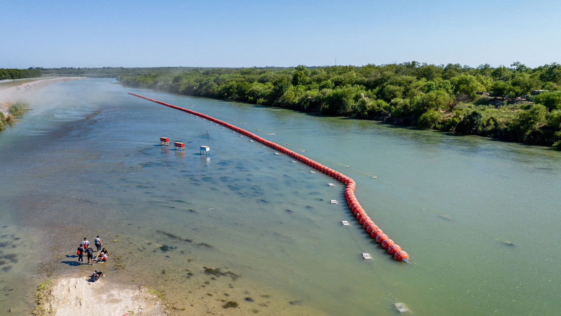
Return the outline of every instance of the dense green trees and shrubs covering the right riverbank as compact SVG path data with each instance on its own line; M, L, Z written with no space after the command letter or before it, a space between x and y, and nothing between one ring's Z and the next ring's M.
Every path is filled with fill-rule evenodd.
M124 85L561 146L561 65L123 68ZM550 90L537 95L534 90Z

